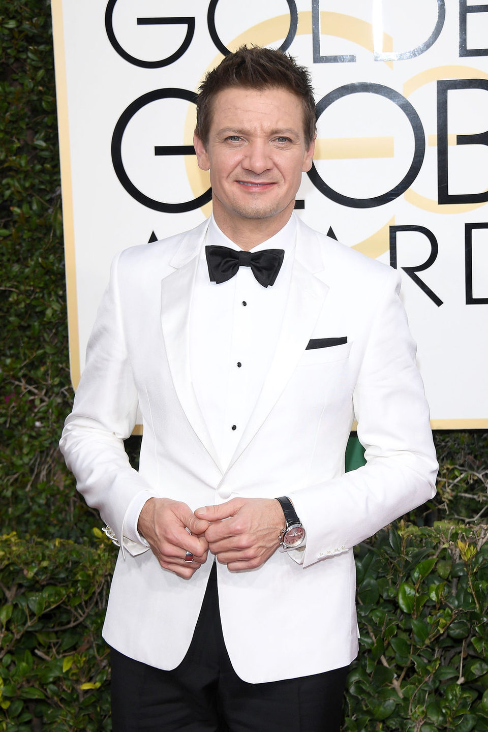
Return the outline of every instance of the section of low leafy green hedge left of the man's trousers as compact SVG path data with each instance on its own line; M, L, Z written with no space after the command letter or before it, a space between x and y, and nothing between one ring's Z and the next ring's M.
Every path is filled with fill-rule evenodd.
M0 538L1 732L111 729L101 631L115 557L103 539Z

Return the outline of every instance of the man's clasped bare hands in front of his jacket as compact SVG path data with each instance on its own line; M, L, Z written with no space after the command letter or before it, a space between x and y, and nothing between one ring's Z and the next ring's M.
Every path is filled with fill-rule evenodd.
M150 498L140 512L138 530L161 567L189 579L209 550L231 572L260 567L277 550L284 523L274 498L233 498L195 513L181 501ZM192 562L185 561L187 551Z

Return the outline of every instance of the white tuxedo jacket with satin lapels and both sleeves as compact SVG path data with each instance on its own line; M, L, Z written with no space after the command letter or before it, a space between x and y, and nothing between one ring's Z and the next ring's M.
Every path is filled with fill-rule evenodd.
M183 659L214 557L190 580L124 538L140 490L190 508L235 496L290 496L307 529L303 563L279 550L259 569L217 564L228 654L250 682L304 676L356 656L353 545L435 493L437 463L397 272L298 222L274 361L222 474L192 389L189 315L207 223L126 250L89 340L61 437L78 490L122 546L103 635L136 660ZM216 285L218 286L218 285ZM346 343L308 348L311 339ZM140 407L140 469L122 440ZM344 472L356 416L367 465Z

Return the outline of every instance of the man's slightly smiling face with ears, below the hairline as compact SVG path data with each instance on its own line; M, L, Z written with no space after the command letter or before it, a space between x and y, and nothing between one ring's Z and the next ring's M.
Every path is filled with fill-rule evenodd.
M217 224L239 231L266 221L279 231L288 221L309 171L301 101L287 89L223 89L213 105L209 140L194 138L198 165L210 171ZM274 225L276 224L276 225Z

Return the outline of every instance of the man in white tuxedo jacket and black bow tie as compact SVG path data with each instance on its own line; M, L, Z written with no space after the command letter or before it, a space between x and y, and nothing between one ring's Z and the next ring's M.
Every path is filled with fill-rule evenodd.
M113 728L337 732L353 545L435 493L415 347L397 273L293 214L307 71L241 48L197 118L211 220L116 258L61 438L121 546ZM367 465L344 474L354 416Z

